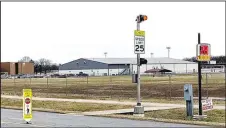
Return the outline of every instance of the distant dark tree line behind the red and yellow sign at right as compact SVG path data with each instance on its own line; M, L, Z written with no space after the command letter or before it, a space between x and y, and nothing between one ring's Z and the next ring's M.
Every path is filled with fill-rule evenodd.
M183 60L185 61L191 61L191 62L197 62L196 57L191 57L191 58L184 58ZM217 64L225 64L226 63L226 57L225 56L212 56L211 61L216 61ZM202 63L207 63L207 62L202 62Z

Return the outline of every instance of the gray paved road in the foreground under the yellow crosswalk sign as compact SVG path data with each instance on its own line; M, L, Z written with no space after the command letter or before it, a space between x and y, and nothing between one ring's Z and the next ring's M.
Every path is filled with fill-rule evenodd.
M35 111L33 111L32 124L25 124L21 110L1 109L1 127L197 127L197 125Z

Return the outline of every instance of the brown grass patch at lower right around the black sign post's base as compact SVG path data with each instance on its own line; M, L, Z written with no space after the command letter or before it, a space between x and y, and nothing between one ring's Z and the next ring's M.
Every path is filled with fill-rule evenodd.
M194 115L198 114L198 109L194 109ZM225 127L225 111L224 110L211 110L204 112L207 115L205 119L193 120L186 116L185 108L176 108L168 110L156 110L145 112L144 117L133 116L132 113L127 114L111 114L102 115L104 117L115 117L115 118L128 118L135 120L154 120L160 122L169 123L183 123L183 124L197 124L197 125L208 125Z

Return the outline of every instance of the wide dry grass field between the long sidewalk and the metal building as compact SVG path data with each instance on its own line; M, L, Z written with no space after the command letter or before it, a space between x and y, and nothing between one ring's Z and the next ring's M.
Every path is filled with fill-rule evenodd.
M192 84L198 96L197 75L141 77L142 100L150 98L183 97L184 84ZM203 97L225 97L225 76L203 74ZM131 76L103 76L84 78L26 78L2 79L1 93L22 96L22 89L31 88L34 96L84 99L136 99L136 84Z

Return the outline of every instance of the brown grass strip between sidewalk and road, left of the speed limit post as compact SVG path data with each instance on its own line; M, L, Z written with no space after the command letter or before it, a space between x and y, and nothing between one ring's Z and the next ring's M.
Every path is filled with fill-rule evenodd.
M23 101L19 99L1 98L1 107L18 107L22 109ZM33 108L51 109L65 112L89 112L132 108L130 105L111 105L111 104L94 104L94 103L76 103L76 102L59 102L59 101L32 101Z

